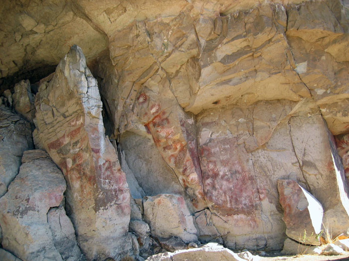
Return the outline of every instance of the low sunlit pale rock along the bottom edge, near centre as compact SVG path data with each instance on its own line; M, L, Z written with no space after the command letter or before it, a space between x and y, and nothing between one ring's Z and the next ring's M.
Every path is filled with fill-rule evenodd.
M147 261L181 261L181 260L221 260L221 261L244 261L237 254L216 244L207 244L202 248L177 250L174 253L167 252L158 254Z

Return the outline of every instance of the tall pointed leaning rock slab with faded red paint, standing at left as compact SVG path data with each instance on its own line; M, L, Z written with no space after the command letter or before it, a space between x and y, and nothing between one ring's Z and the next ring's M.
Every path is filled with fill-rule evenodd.
M82 252L89 260L127 255L130 192L104 134L97 81L78 46L40 86L35 107L34 141L64 174L68 214Z

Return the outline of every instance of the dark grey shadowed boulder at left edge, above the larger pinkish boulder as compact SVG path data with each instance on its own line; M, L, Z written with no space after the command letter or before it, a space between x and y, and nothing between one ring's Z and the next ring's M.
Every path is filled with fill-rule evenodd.
M0 196L18 173L23 152L33 148L28 122L0 107Z

